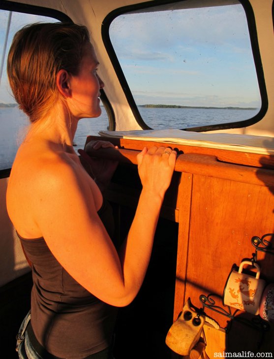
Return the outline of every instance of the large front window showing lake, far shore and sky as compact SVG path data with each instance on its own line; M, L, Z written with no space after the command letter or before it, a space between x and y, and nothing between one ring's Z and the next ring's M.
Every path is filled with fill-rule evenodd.
M111 22L109 39L150 128L209 131L258 117L261 91L245 10L237 0L225 2L174 2Z

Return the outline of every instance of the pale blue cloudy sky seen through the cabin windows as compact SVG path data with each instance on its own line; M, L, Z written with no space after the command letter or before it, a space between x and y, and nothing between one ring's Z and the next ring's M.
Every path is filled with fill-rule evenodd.
M15 31L41 20L13 13L8 46ZM0 54L6 23L0 11ZM110 37L137 104L260 107L241 4L124 14L111 24ZM5 67L0 102L9 103Z

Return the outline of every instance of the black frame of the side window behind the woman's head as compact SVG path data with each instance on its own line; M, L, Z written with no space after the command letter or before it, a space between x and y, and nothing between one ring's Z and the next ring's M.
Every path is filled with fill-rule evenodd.
M0 0L0 10L20 12L23 14L47 16L62 22L73 23L71 18L66 14L64 14L63 12L43 6L36 6L36 5L23 4L19 2ZM109 118L109 129L111 131L114 131L116 123L115 123L115 114L113 108L103 89L100 90L100 93L101 93L100 98L102 100L102 103L106 109ZM9 177L10 170L11 168L0 169L0 178Z

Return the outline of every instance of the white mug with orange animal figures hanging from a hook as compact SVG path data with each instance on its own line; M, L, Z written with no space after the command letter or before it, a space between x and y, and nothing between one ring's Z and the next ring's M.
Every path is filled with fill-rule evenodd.
M225 285L223 302L230 307L259 314L260 301L266 282L260 279L261 269L257 263L253 263L257 269L255 276L243 273L243 267L246 264L252 265L252 262L242 261L239 271L235 269L231 271Z

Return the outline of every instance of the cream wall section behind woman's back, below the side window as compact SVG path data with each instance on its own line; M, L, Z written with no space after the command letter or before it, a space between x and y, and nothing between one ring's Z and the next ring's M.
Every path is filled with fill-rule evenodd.
M7 178L0 179L0 287L30 271L7 214L5 206L7 182Z

